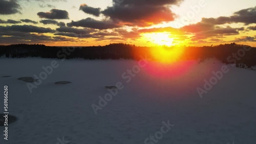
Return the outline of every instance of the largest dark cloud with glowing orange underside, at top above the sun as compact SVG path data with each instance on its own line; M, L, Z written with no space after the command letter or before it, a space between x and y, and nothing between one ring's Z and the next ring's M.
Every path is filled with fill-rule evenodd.
M113 20L122 21L126 26L152 26L164 21L173 21L175 14L169 5L177 5L181 0L125 0L122 3L113 0L113 6L102 11L102 14Z

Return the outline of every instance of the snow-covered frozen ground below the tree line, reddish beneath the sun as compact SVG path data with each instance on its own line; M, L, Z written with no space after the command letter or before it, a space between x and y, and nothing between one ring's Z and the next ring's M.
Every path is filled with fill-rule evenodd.
M9 125L8 141L4 140L4 127L0 127L0 143L256 142L254 70L227 65L228 73L202 98L197 89L203 89L205 80L215 76L212 71L220 71L223 66L216 60L171 65L149 62L143 63L145 67L132 60L57 60L58 67L32 93L26 82L17 80L39 76L44 71L42 66L52 61L0 59L0 112L4 110L4 85L8 85L9 112L18 117ZM58 81L72 83L55 85ZM104 98L109 92L104 86L118 82L123 89L95 114L92 104L99 106L99 96ZM173 127L161 135L162 122Z

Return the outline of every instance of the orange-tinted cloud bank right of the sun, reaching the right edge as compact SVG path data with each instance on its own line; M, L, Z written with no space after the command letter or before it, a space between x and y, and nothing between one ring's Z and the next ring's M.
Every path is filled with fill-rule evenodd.
M184 26L182 31L195 34L191 40L207 39L208 37L221 37L228 35L238 35L239 31L244 31L245 28L222 28L219 25L225 23L244 23L249 25L250 23L256 23L256 7L243 9L235 12L232 16L221 16L218 18L202 18L202 20L196 24ZM248 27L248 30L255 30L255 27Z

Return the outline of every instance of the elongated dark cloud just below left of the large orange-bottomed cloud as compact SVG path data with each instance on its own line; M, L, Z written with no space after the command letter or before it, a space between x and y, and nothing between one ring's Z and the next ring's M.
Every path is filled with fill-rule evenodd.
M113 28L119 28L120 26L113 22L112 20L95 20L93 18L86 18L79 21L73 21L70 23L67 23L68 27L83 27L83 28L93 28L93 29L99 29L99 30L105 30L105 29L113 29Z

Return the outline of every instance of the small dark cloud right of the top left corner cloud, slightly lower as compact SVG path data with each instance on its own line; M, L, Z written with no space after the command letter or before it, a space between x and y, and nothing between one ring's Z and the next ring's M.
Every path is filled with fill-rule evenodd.
M38 12L40 18L69 19L69 13L65 10L52 9L50 12Z

